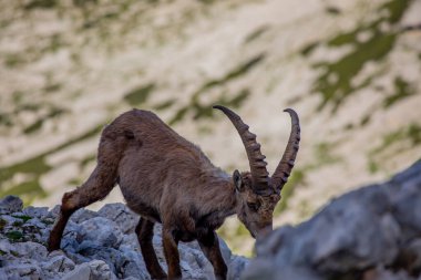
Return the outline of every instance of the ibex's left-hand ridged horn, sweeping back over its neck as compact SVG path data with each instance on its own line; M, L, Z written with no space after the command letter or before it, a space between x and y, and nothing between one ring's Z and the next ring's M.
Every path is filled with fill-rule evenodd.
M267 163L265 162L266 156L261 155L260 144L256 141L256 135L248 131L248 125L246 125L242 118L227 107L215 105L213 108L218 108L230 120L237 129L239 136L242 137L244 147L247 152L248 163L250 165L250 173L253 178L254 190L256 194L268 193L268 178L269 173L266 169Z

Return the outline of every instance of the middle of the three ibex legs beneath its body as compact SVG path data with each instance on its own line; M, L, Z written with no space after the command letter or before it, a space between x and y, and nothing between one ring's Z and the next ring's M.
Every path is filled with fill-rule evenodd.
M182 270L179 268L178 240L175 239L171 229L163 225L162 243L166 265L168 266L168 279L182 279Z

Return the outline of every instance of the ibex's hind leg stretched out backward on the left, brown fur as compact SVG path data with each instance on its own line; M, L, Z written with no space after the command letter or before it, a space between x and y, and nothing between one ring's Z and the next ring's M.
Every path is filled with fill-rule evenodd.
M116 139L114 138L114 141ZM106 139L103 135L95 169L81 187L64 194L59 218L50 234L49 251L60 249L65 225L74 211L105 198L113 189L116 183L119 162L123 153L121 151L123 145L116 145L117 143L114 141Z

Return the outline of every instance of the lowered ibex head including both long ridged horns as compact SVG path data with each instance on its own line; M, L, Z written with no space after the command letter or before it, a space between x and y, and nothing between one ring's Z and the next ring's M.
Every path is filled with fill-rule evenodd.
M271 230L273 214L276 204L280 199L280 190L294 167L300 141L300 127L297 113L287 108L291 122L291 133L283 158L275 173L269 177L266 169L267 163L260 152L260 144L256 141L256 135L248 131L242 118L227 107L216 105L232 121L247 152L250 172L239 173L235 170L233 180L237 196L237 215L239 220L247 227L253 237L257 237L265 230Z

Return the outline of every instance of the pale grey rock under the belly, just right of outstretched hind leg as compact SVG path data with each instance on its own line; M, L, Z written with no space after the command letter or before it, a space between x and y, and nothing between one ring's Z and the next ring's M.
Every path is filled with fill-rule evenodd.
M140 216L130 210L124 204L104 205L97 214L113 220L124 234L134 232Z

